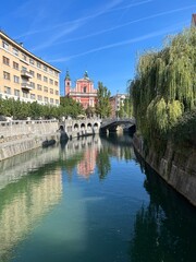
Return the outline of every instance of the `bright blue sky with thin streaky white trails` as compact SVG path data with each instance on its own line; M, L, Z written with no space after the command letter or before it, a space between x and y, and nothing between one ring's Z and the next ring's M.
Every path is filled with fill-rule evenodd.
M137 58L167 35L189 27L195 0L8 0L0 28L37 57L70 71L72 86L87 70L111 94L125 93Z

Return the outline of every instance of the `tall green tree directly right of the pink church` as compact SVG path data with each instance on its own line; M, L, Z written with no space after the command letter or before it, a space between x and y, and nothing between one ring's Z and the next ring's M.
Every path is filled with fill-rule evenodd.
M109 117L111 114L110 96L110 91L103 86L102 82L98 82L96 114L101 118Z

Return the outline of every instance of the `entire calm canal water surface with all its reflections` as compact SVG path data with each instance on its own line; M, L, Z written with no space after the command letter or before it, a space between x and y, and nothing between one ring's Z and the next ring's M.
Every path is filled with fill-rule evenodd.
M196 210L135 155L87 136L0 163L0 262L193 262Z

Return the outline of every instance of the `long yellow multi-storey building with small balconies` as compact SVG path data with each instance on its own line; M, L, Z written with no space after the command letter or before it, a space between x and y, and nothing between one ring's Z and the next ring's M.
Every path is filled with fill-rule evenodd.
M60 104L60 70L0 31L0 97Z

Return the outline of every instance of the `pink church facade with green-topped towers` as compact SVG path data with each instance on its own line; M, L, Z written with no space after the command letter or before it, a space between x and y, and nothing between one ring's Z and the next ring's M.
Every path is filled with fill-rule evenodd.
M97 90L94 88L94 82L88 78L87 71L83 79L76 81L76 86L74 88L72 88L69 71L66 71L64 93L65 96L72 97L74 100L81 103L84 109L95 107L97 103Z

